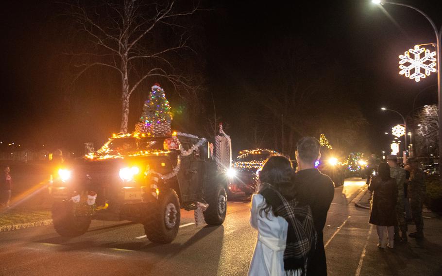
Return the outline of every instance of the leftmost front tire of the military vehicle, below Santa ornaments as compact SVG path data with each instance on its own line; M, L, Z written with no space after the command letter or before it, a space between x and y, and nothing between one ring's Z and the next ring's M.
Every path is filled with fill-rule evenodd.
M74 216L71 201L56 202L52 205L52 223L62 237L78 237L87 232L90 217Z

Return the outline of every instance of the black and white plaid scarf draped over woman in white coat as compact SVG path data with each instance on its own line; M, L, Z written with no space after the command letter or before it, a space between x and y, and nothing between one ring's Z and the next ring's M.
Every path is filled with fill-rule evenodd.
M313 225L310 206L298 206L296 199L287 200L266 183L266 188L259 192L267 204L272 206L275 216L283 217L288 223L286 249L284 250L284 270L286 276L294 275L302 269L302 276L307 273L307 259L316 249L317 233Z

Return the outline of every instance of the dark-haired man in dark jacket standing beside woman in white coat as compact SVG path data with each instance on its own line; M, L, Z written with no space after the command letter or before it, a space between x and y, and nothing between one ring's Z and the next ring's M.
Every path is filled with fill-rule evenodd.
M321 156L319 141L313 137L304 137L297 143L296 190L300 204L310 205L318 233L318 243L314 255L307 264L307 275L327 275L323 228L327 211L333 200L335 189L333 181L315 168L315 162Z

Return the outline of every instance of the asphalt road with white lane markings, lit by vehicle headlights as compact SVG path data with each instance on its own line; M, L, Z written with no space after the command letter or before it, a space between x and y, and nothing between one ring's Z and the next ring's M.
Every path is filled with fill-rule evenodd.
M365 187L348 179L335 189L324 228L328 274L442 275L440 220L425 221L439 228L426 231L424 242L378 249L369 211L354 206ZM128 222L94 221L85 235L71 239L51 226L3 232L0 275L247 275L257 235L248 220L248 202L229 202L225 223L214 227L196 227L193 212L182 211L182 227L170 244L149 242L141 224Z

